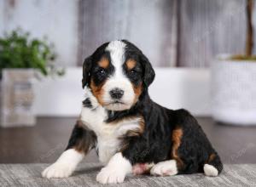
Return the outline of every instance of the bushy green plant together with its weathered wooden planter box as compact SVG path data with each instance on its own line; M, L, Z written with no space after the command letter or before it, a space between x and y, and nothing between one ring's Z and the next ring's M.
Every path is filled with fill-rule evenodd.
M1 122L2 127L34 125L35 76L61 75L55 67L53 45L31 38L16 29L0 38Z

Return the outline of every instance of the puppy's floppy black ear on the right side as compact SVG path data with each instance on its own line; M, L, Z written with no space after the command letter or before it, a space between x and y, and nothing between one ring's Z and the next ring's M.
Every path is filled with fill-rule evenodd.
M144 67L143 83L145 87L148 88L148 86L154 81L155 73L151 63L144 54L142 54L141 60Z

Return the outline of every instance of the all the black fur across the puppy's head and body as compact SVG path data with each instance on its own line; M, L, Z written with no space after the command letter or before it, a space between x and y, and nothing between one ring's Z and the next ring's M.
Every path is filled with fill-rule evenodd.
M220 173L223 169L222 162L198 122L188 111L183 109L177 111L169 110L150 99L148 86L154 81L154 69L141 50L131 42L125 40L123 42L127 46L125 48L125 59L135 59L139 62L134 68L135 74L132 72L132 75L130 75L131 72L126 70L125 67L124 71L135 86L143 85L143 92L131 109L108 111L106 122L114 122L130 116L143 116L145 124L143 133L122 137L123 144L126 145L125 149L121 150L123 156L131 161L131 164L157 163L175 159L177 160L178 173L202 172L204 164L208 163L216 167L218 173ZM90 78L94 78L95 82L100 83L112 73L114 67L109 65L108 73L101 79L99 78L100 76L95 76L97 69L96 66L93 66L95 64L93 62L99 60L102 55L108 56L108 53L106 54L104 50L107 45L108 43L103 44L102 47L97 48L94 54L85 59L83 87L88 85ZM88 101L84 101L84 105L90 107ZM178 158L172 154L175 147L172 136L176 129L180 129L182 132L182 136L179 139L180 144L177 148ZM72 139L76 139L76 136L84 136L84 134L86 133L79 132L79 129L74 129L74 138ZM75 140L72 140L72 142L75 142Z

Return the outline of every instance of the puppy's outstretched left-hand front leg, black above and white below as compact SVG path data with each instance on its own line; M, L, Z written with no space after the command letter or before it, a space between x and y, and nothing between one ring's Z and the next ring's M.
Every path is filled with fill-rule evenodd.
M69 177L84 155L95 146L96 135L89 129L85 129L81 122L77 122L73 128L67 149L59 159L44 169L44 178L66 178Z

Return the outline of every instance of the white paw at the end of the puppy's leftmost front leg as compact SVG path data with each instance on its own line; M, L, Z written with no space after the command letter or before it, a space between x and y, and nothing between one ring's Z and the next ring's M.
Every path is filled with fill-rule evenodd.
M74 168L68 164L55 162L44 169L42 176L44 178L67 178L73 173L73 170Z

